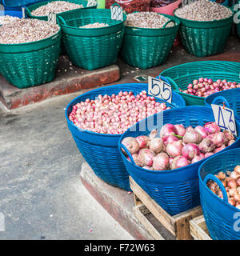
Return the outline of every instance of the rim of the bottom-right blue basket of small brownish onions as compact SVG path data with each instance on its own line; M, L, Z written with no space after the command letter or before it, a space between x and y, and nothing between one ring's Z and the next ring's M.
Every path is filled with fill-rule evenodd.
M233 153L233 154L236 154L237 152L235 152L235 151L237 151L237 152L240 153L240 148L235 148L235 149L232 149L232 150L228 150L227 152L226 152L226 151L224 151L224 152L219 152L218 154L214 154L214 155L211 155L210 157L206 158L206 161L202 162L202 164L201 164L201 165L199 166L199 168L198 168L198 180L199 180L199 182L202 184L202 186L203 186L203 187L206 187L207 191L208 191L209 193L211 193L211 195L214 196L214 198L215 198L216 200L218 200L218 202L224 203L225 206L230 207L231 210L237 210L237 211L240 212L240 209L238 209L238 208L235 207L235 206L230 205L230 203L228 203L228 202L225 202L224 200L222 200L221 198L219 198L217 194L214 194L207 186L205 186L205 184L204 184L203 181L202 181L202 177L201 177L201 175L200 175L202 166L204 166L204 164L205 164L206 162L209 162L209 161L211 160L211 158L214 158L214 157L217 157L217 156L219 156L219 155L226 154L226 153Z

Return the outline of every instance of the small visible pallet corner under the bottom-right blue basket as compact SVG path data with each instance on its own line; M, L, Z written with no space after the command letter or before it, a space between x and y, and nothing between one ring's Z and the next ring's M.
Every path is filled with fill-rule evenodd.
M194 240L212 240L203 215L190 220L190 234Z

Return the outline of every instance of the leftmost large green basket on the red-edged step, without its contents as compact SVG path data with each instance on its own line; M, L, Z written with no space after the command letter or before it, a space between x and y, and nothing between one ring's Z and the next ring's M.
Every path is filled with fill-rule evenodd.
M38 86L55 77L61 30L37 42L0 44L0 73L18 88Z

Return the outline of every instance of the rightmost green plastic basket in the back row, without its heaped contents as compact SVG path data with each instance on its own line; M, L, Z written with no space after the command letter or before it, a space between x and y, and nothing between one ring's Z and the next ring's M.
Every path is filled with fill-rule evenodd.
M174 16L179 18L175 14L176 10ZM198 57L221 54L230 35L233 17L234 13L229 18L213 22L196 22L179 18L180 36L185 50Z

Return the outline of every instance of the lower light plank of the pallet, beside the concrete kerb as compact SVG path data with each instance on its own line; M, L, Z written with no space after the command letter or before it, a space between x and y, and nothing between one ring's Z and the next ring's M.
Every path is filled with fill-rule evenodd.
M138 218L138 221L146 228L146 230L153 236L155 240L165 240L162 235L155 229L155 227L150 223L150 221L145 217L144 213L150 213L149 210L143 204L134 206L134 215Z

